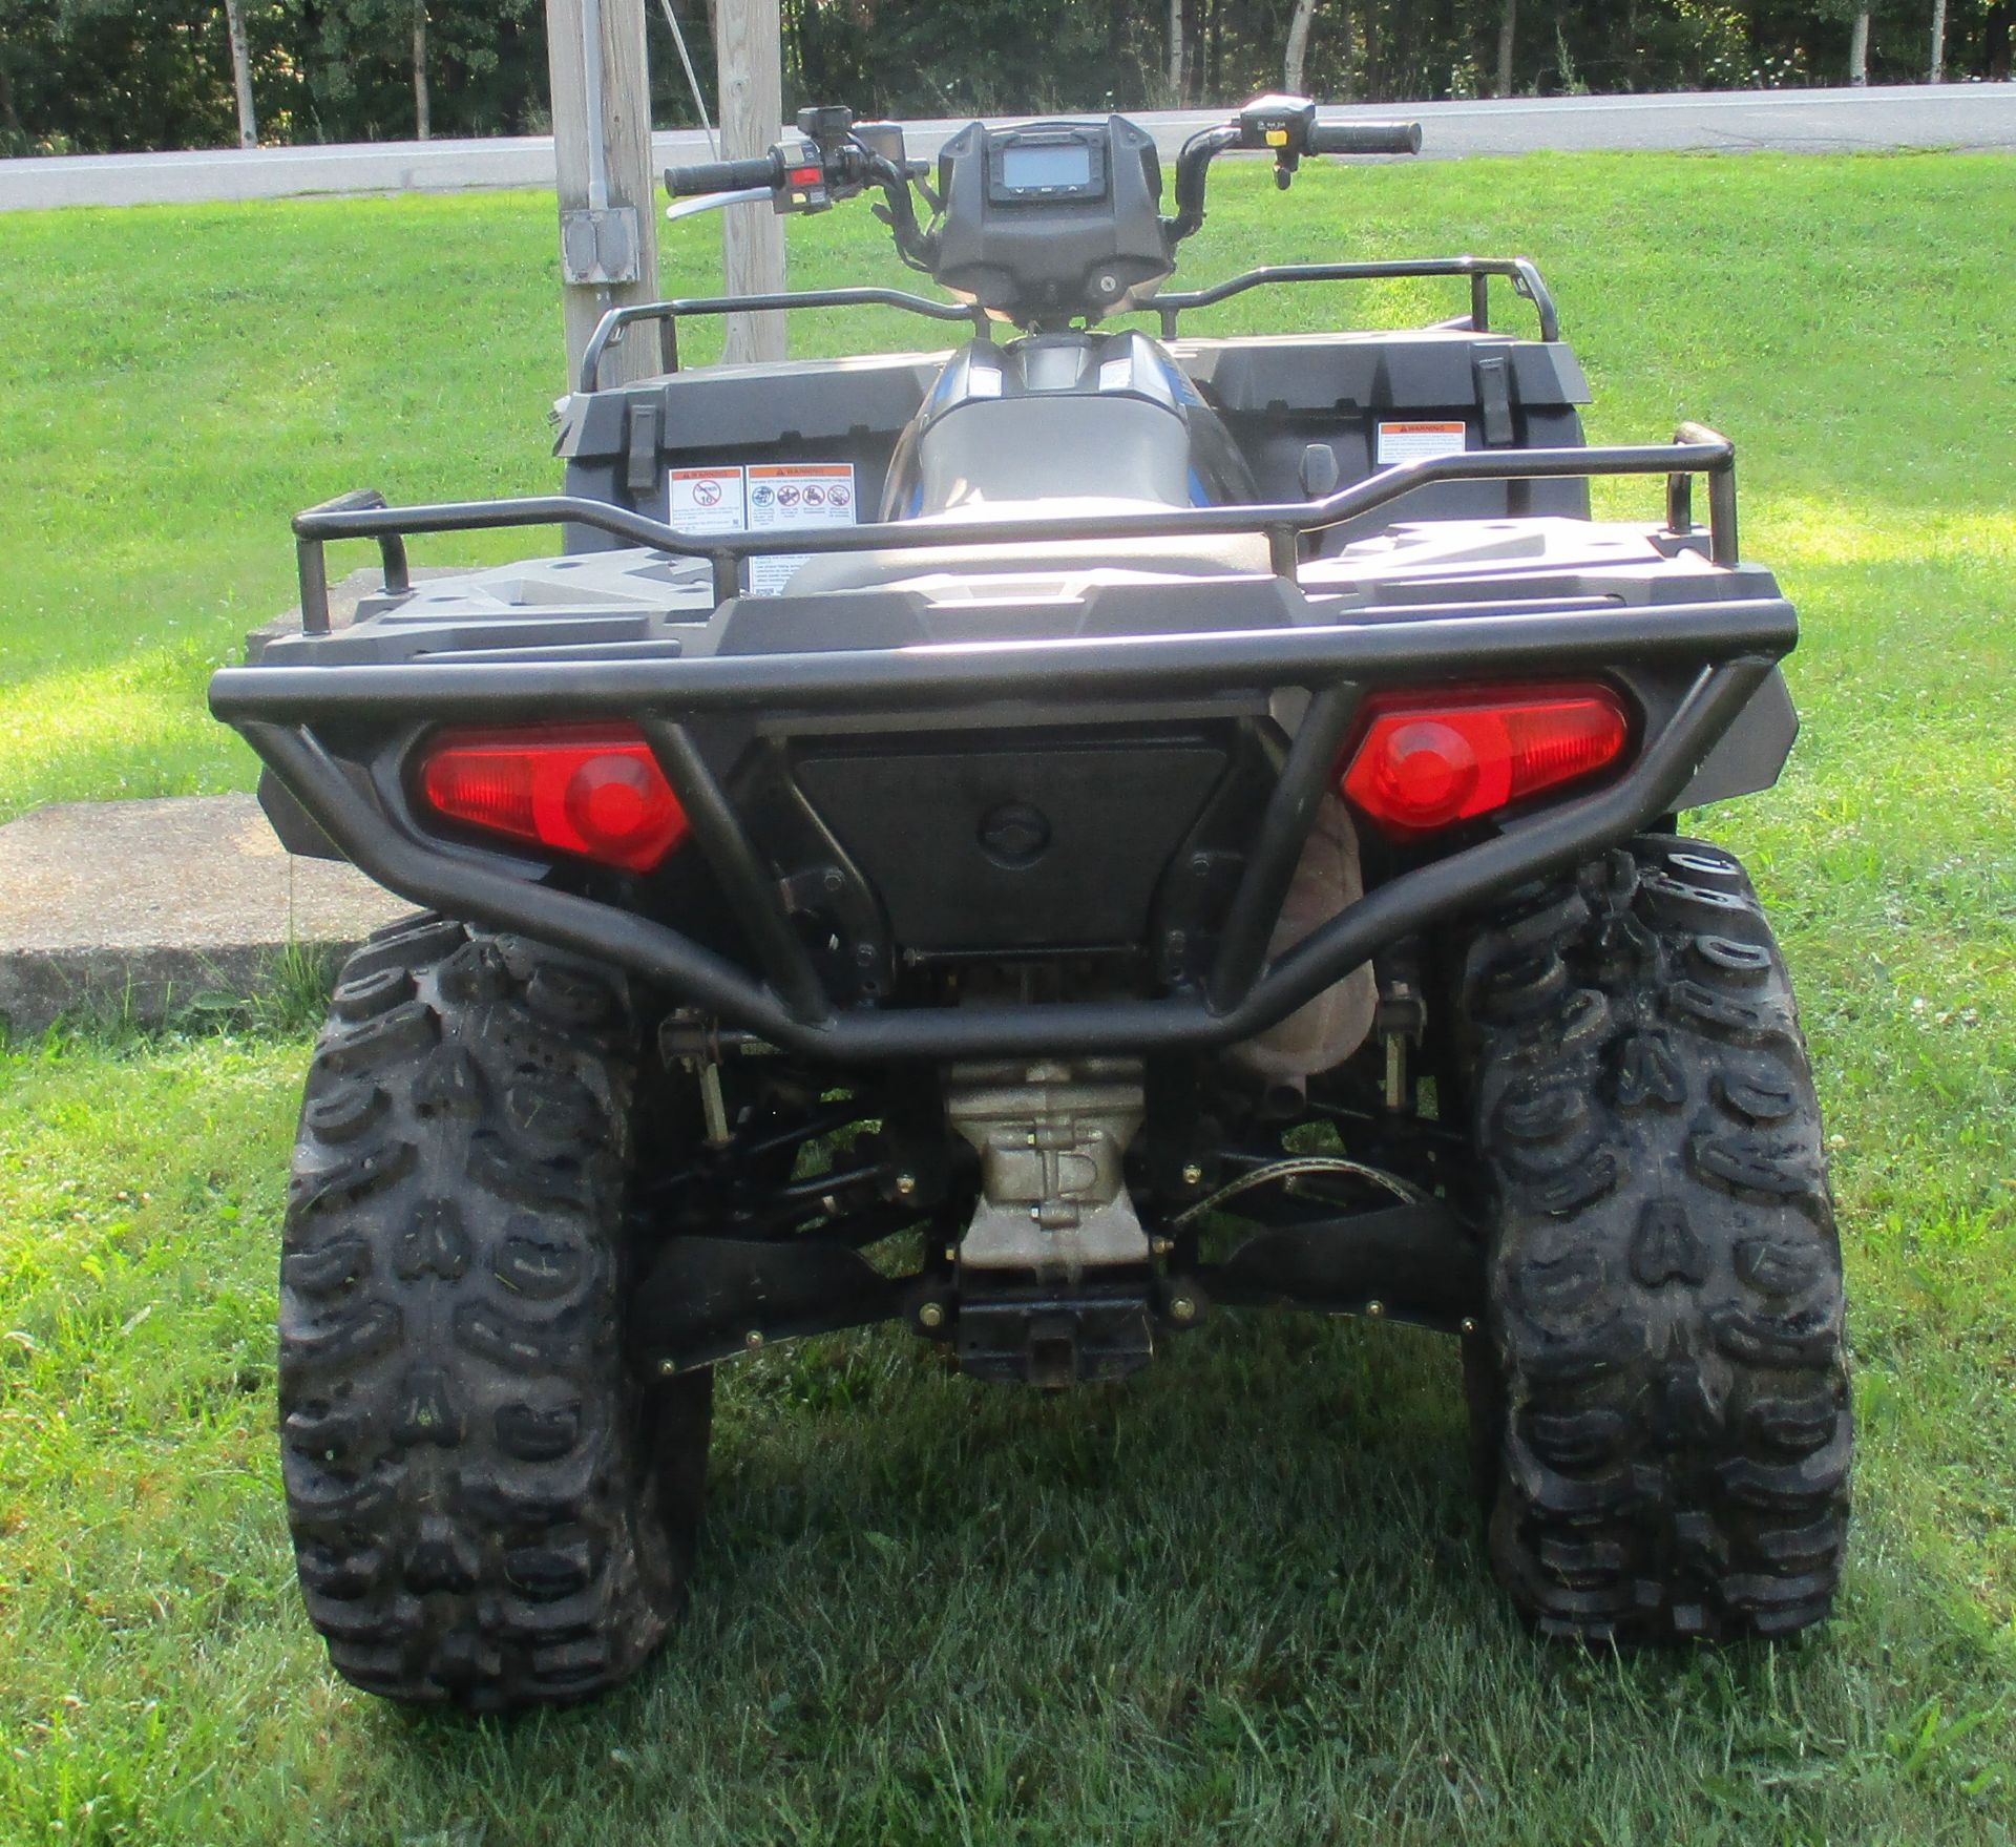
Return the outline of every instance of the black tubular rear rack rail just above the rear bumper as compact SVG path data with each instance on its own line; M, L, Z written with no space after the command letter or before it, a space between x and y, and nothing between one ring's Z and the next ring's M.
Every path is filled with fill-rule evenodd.
M1597 474L1667 476L1669 518L1687 516L1691 500L1673 476L1706 474L1710 480L1710 557L1736 563L1736 448L1699 423L1683 423L1671 444L1637 444L1583 450L1466 450L1458 456L1423 456L1395 462L1320 500L1258 502L1252 506L1169 506L1147 512L1089 514L1083 518L956 518L889 520L869 526L810 526L776 532L681 532L649 514L587 500L579 494L540 494L526 500L458 500L444 506L385 506L377 494L345 494L294 514L300 555L300 625L308 635L329 633L329 573L323 544L331 538L399 538L413 532L480 532L500 526L595 526L631 544L708 559L714 597L740 595L742 559L770 552L923 550L956 544L1058 544L1085 538L1173 538L1224 532L1264 532L1276 575L1294 579L1304 532L1391 506L1403 494L1433 482L1542 480ZM1677 526L1675 530L1687 530ZM405 552L399 550L403 579ZM387 548L387 573L391 552ZM389 581L387 581L387 587ZM401 581L403 589L403 581Z

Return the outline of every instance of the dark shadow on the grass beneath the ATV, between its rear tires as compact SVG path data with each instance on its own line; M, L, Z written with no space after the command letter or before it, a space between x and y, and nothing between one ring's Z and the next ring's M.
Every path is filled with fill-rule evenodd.
M843 1712L863 1736L911 1728L946 1700L1026 1726L1121 1698L1117 1668L1135 1728L1181 1740L1226 1676L1256 1710L1294 1704L1337 1682L1308 1672L1320 1653L1395 1611L1514 1633L1454 1345L1312 1317L1222 1319L1129 1383L1056 1397L952 1375L901 1333L724 1367L694 1583L631 1688L482 1734L562 1774L613 1732L718 1736L736 1712L780 1740ZM472 1730L387 1736L448 1795Z

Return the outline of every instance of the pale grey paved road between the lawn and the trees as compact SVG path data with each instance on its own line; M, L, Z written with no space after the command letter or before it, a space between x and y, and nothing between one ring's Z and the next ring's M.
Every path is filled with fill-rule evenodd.
M1423 153L1776 149L1839 153L1887 147L2016 151L2016 85L1899 85L1867 91L1762 91L1679 97L1516 97L1506 103L1413 103L1325 111L1339 121L1417 117ZM1149 111L1163 153L1218 117ZM913 125L929 155L962 127ZM659 165L708 159L694 131L653 137ZM379 141L367 147L260 147L200 153L103 153L0 161L0 210L272 200L294 194L476 192L552 186L552 141Z

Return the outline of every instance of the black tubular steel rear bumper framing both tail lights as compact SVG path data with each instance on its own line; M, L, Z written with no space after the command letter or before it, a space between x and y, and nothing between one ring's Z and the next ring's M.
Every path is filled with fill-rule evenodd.
M1377 621L1234 633L996 641L893 649L540 661L228 667L212 712L236 726L343 851L413 903L577 950L661 986L726 1026L835 1065L1062 1053L1153 1053L1264 1032L1383 946L1572 865L1669 815L1697 766L1792 649L1776 597ZM1310 817L1365 694L1381 686L1516 673L1679 671L1609 786L1508 823L1496 837L1369 891L1286 956L1266 946ZM1210 980L1195 992L1032 1006L841 1008L784 911L762 857L687 730L710 716L927 714L1018 702L1123 722L1155 702L1304 688L1296 732L1232 899ZM651 740L694 841L720 879L756 968L679 930L474 861L383 813L325 742L331 728L621 714Z

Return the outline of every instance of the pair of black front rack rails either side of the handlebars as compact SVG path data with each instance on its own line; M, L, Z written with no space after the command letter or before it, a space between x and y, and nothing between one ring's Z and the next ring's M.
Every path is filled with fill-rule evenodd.
M1407 256L1391 262L1288 262L1246 270L1210 288L1163 290L1133 315L1155 315L1161 323L1161 337L1175 339L1179 315L1193 309L1208 309L1246 294L1250 288L1284 288L1296 282L1383 282L1405 276L1468 276L1470 315L1443 327L1466 327L1470 333L1490 333L1490 278L1506 276L1512 292L1532 302L1540 319L1540 339L1560 339L1560 315L1554 296L1548 294L1540 270L1526 256ZM786 315L798 309L901 309L905 315L921 315L925 321L970 321L980 339L988 337L992 321L988 311L976 302L933 300L927 294L909 294L903 288L802 288L782 294L696 294L677 300L633 302L625 309L611 309L595 325L589 345L581 355L577 389L603 389L603 355L619 345L633 327L655 323L659 329L659 369L673 373L679 369L679 323L712 315Z

